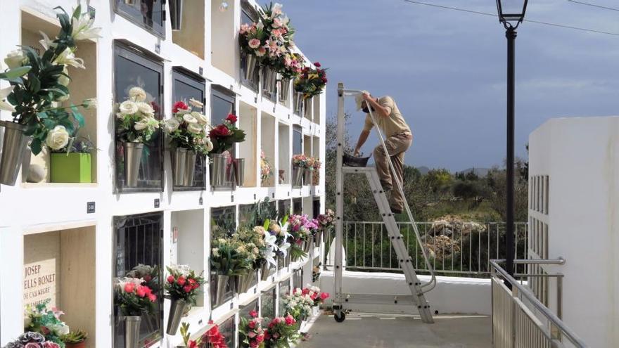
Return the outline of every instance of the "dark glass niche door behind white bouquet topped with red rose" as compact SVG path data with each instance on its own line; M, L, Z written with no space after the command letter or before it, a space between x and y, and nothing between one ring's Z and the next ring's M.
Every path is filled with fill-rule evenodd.
M172 105L177 101L189 105L190 99L195 99L203 105L206 105L205 99L205 81L199 77L193 75L193 73L186 72L180 67L174 67L172 70L172 79L174 85L172 86ZM190 107L193 111L200 112L203 115L207 115L207 112L202 108ZM172 115L172 110L170 110ZM172 151L172 149L170 149ZM170 161L172 163L172 161ZM196 156L196 165L193 167L193 185L191 186L174 186L174 191L200 191L206 189L206 164L207 158L205 155L198 154Z

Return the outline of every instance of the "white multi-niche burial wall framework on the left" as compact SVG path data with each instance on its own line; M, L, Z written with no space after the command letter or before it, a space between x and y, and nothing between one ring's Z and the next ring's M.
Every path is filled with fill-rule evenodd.
M193 0L191 0L193 1ZM186 4L191 4L186 1ZM9 51L16 49L21 44L21 27L23 25L23 13L30 13L37 18L37 23L44 23L46 27L56 25L53 8L63 6L67 11L82 4L85 9L92 6L96 10L95 26L102 27L101 39L96 43L96 67L87 67L93 74L96 72L96 98L98 98L98 110L96 116L87 120L89 124L96 124L96 147L100 149L96 155L96 183L87 184L62 184L62 183L22 183L21 177L15 186L0 187L0 346L23 332L23 279L24 279L24 236L26 234L44 233L48 231L60 231L69 228L91 228L96 240L96 252L94 262L96 273L84 281L96 283L94 313L92 316L96 322L96 332L90 333L89 347L112 347L113 326L113 217L145 212L163 212L163 264L170 264L174 258L191 264L202 264L205 274L208 274L210 252L210 209L212 207L247 205L264 197L272 200L291 200L292 198L319 198L321 210L324 210L324 168L321 169L320 184L317 186L304 186L293 189L290 184L276 183L274 187L261 187L260 179L257 178L256 187L237 188L236 191L214 191L207 183L205 191L173 191L172 171L170 157L164 151L165 161L164 189L162 192L151 193L114 193L114 126L111 121L114 101L114 41L125 39L130 44L159 56L163 60L164 79L163 101L165 117L170 117L172 108L172 67L182 66L206 79L205 112L210 112L210 86L218 84L231 89L236 94L237 113L241 108L240 103L249 105L255 109L257 116L257 134L255 134L255 157L260 155L261 137L271 138L274 158L290 161L293 155L288 150L288 158L279 157L279 144L276 135L260 134L260 115L267 112L275 118L275 124L288 124L289 134L292 125L302 127L303 134L319 139L320 145L312 147L312 155L318 156L324 161L324 134L326 122L326 98L319 96L317 111L314 112L314 120L295 115L295 112L286 105L274 103L262 97L259 91L253 91L241 84L239 69L239 50L236 32L240 26L241 0L228 0L230 8L226 13L219 13L218 0L198 0L203 2L205 18L205 33L197 34L196 39L203 37L204 52L196 56L189 50L182 48L172 41L170 27L170 11L167 11L165 37L144 30L135 25L131 20L115 13L115 0L11 0L0 1L0 57L6 56ZM250 4L257 3L253 0ZM200 6L200 9L202 6ZM191 8L185 8L191 11ZM215 21L215 22L214 22ZM225 29L222 29L225 27ZM29 27L29 30L38 32L39 27ZM55 30L55 29L54 29ZM222 35L215 33L220 32ZM79 51L77 52L79 57ZM309 63L310 60L308 59ZM217 64L218 67L214 65ZM2 87L6 82L0 83ZM71 85L69 86L71 89ZM123 98L120 96L120 98ZM290 98L292 94L290 94ZM290 105L290 104L288 104ZM11 120L9 112L0 112L0 120ZM213 120L218 122L219 120ZM242 123L242 122L241 122ZM0 131L0 141L2 131ZM291 148L291 143L288 142ZM237 153L239 146L237 145ZM276 166L273 161L272 166ZM208 170L208 169L207 169ZM277 177L275 171L275 178ZM256 173L259 175L259 173ZM288 174L290 175L290 174ZM208 179L208 175L207 175ZM277 182L277 180L275 179ZM160 200L160 207L155 208L153 202ZM87 214L87 202L96 202L96 212ZM186 212L185 212L186 211ZM238 209L237 209L238 211ZM237 215L238 216L238 215ZM195 217L195 218L194 218ZM201 236L191 235L189 239L182 239L178 243L172 243L170 233L176 226L181 233L201 233ZM180 238L183 238L182 235ZM195 247L191 254L179 256L184 247ZM317 257L316 251L313 257ZM262 282L257 290L251 289L248 294L235 297L232 302L226 304L227 309L219 308L211 311L208 308L209 291L205 285L203 309L192 311L186 321L191 323L191 331L198 332L204 328L209 318L222 321L226 317L236 315L239 304L250 301L253 297L259 297L265 288L278 283L290 276L293 269L305 267L305 283L311 280L311 265L305 262L293 264L289 269L283 269L276 276L269 277L269 281ZM202 269L198 269L201 271ZM61 290L63 291L63 290ZM84 296L76 292L76 296ZM165 328L169 302L164 304ZM238 320L238 318L237 318ZM180 342L180 336L164 338L155 343L153 347L176 347Z

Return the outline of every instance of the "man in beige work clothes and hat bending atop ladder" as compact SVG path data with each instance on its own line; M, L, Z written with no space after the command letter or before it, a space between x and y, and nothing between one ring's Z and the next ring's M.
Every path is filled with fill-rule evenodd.
M363 91L355 97L357 102L357 111L363 110L366 113L365 123L361 134L359 134L359 141L355 147L355 156L359 156L359 149L366 142L374 122L369 115L369 108L376 116L376 124L381 128L383 134L385 134L385 146L387 147L388 154L385 153L383 146L378 144L374 148L374 162L376 162L376 171L381 178L381 184L385 192L391 192L389 205L391 212L394 214L402 214L404 210L404 199L402 193L397 188L393 190L394 181L392 176L397 176L397 179L402 183L402 170L404 169L404 153L409 149L413 141L413 135L407 122L402 117L400 109L397 108L395 101L390 96L383 96L381 98L374 98L368 91ZM393 162L393 168L395 173L390 172L389 157Z

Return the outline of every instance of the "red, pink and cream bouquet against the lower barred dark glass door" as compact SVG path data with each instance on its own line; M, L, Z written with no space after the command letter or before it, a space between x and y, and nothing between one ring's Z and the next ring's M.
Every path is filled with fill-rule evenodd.
M141 316L153 311L157 295L142 278L118 278L116 281L115 304L123 316Z

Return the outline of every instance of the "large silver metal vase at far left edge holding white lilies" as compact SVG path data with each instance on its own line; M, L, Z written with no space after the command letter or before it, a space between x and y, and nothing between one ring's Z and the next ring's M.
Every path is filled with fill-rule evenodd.
M0 122L4 126L2 157L0 158L0 183L13 186L28 153L30 136L24 134L25 126L15 122Z

